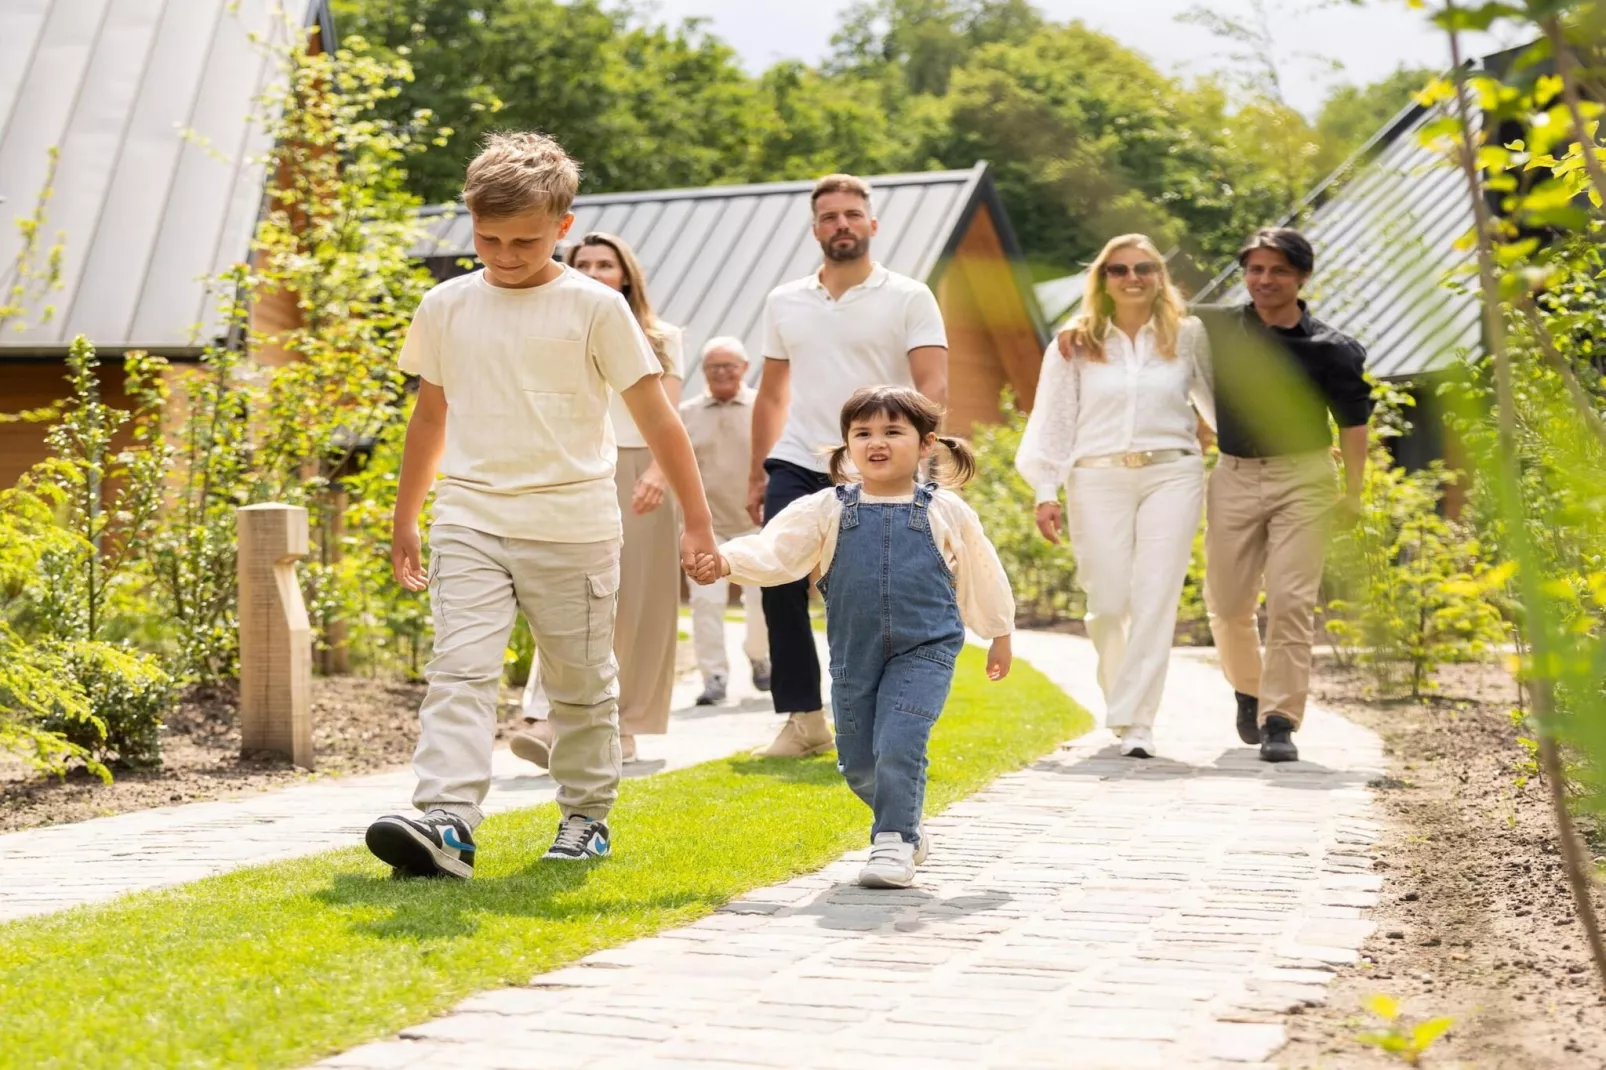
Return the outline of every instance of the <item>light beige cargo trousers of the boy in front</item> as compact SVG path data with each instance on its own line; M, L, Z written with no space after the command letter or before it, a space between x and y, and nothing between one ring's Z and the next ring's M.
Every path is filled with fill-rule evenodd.
M413 805L471 826L491 781L503 655L519 611L551 699L557 808L605 818L618 797L618 543L543 543L467 527L430 530L435 657L424 668Z

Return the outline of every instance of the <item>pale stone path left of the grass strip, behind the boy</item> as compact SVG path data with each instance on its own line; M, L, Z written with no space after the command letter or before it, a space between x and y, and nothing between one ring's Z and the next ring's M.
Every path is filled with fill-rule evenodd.
M740 625L726 630L740 651ZM731 702L716 710L694 707L699 691L695 673L676 686L673 729L642 737L644 760L625 766L626 776L697 765L774 736L774 707L745 673L736 673ZM487 813L551 800L551 778L506 749L493 768ZM10 832L0 835L0 922L361 843L371 819L410 811L411 794L413 773L398 770Z

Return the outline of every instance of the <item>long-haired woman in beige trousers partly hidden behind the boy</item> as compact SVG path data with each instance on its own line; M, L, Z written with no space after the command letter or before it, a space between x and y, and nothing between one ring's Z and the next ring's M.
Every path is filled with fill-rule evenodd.
M684 379L681 328L654 313L647 278L630 244L617 235L593 231L570 246L570 268L617 289L636 315L642 334L663 366L663 392L679 408ZM636 736L670 731L675 689L675 643L681 609L679 516L668 480L652 450L636 431L625 402L615 394L609 416L618 440L613 482L625 517L620 553L618 614L613 655L618 659L618 733L625 762L636 760ZM527 692L530 696L530 692ZM530 702L527 702L527 709ZM546 766L551 731L535 720L514 734L512 752Z

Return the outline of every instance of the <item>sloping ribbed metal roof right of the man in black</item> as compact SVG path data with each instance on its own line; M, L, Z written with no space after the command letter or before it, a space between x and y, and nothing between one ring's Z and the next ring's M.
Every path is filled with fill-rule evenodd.
M1476 259L1460 241L1473 230L1466 180L1418 137L1442 116L1405 108L1283 220L1315 246L1310 310L1360 339L1380 379L1444 368L1482 339L1476 288L1445 284ZM1246 300L1237 273L1229 267L1198 300Z

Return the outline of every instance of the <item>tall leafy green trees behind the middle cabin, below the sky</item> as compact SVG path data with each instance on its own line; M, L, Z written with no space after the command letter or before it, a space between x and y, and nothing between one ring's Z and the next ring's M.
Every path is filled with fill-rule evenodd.
M1396 100L1394 82L1341 92L1312 127L1275 84L1235 100L1168 77L1028 0L859 0L821 67L787 59L758 77L700 22L660 26L634 5L340 0L337 19L410 64L379 114L442 125L438 148L410 162L427 201L458 198L463 161L499 127L557 137L588 193L988 159L1041 276L1126 230L1213 265L1370 137L1368 108Z

